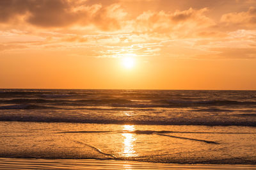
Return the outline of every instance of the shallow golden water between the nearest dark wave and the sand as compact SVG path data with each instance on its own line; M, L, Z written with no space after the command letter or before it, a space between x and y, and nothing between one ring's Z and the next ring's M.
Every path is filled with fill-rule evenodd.
M0 123L0 157L255 164L255 127Z

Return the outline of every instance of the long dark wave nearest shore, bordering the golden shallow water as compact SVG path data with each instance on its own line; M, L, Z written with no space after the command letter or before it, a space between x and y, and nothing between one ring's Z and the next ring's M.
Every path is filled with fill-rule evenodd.
M180 118L173 120L172 118L166 120L126 120L126 118L92 118L89 116L81 116L78 114L65 116L63 114L2 114L0 115L0 121L34 121L34 122L63 122L63 123L98 123L98 124L118 124L118 125L200 125L200 126L245 126L256 127L256 121L240 120L237 119L225 119L215 120L211 118L202 118L200 120L191 120L189 118Z

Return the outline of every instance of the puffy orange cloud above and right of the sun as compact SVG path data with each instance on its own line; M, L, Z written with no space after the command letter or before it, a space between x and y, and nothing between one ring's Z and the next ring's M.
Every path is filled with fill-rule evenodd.
M214 25L214 21L206 17L207 8L200 10L169 12L144 12L134 20L134 27L139 32L149 33L177 33L188 35L191 31ZM176 32L175 32L176 31Z

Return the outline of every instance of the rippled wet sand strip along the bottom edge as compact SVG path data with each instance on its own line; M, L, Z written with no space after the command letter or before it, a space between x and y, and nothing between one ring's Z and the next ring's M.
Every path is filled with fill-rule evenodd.
M162 164L121 160L0 158L0 169L256 169L256 165Z

